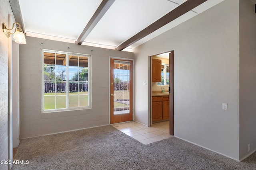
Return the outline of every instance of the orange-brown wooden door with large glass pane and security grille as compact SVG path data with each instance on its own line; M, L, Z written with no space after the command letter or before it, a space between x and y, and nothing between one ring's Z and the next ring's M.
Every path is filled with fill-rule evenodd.
M110 59L110 124L132 121L132 61Z

